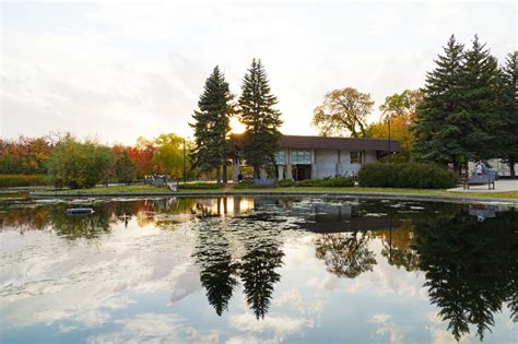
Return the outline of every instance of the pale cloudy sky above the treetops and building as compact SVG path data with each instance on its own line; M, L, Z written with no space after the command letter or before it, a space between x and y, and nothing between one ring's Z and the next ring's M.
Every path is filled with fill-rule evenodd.
M451 34L498 60L516 50L515 1L1 2L0 137L70 131L133 144L188 126L217 64L238 96L266 67L285 134L316 134L326 93L422 87Z

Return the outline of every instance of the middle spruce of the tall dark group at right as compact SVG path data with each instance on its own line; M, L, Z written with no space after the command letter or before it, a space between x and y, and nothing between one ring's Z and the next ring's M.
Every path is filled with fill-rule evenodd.
M499 135L497 129L503 121L498 106L499 70L496 58L490 55L485 44L475 36L472 48L466 52L462 66L462 114L452 116L451 121L462 127L458 138L471 158L496 157L494 142Z

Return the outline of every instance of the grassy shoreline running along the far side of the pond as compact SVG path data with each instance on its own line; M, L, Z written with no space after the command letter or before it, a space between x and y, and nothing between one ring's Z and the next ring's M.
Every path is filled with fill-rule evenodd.
M481 198L481 199L507 199L518 200L518 191L507 192L450 192L442 189L402 189L402 188L362 188L362 187L349 187L349 188L325 188L325 187L292 187L292 188L249 188L240 189L234 188L232 185L220 189L180 189L178 192L168 191L165 188L156 188L152 186L137 185L137 186L110 186L110 187L95 187L91 189L81 190L46 190L35 192L38 197L59 197L59 195L93 195L96 194L110 194L110 195L125 195L131 193L141 194L157 194L157 195L178 195L181 193L187 194L233 194L233 193L249 193L249 194L261 194L261 193L338 193L338 194L355 194L355 193L390 193L401 195L432 195L432 197L448 197L448 198Z

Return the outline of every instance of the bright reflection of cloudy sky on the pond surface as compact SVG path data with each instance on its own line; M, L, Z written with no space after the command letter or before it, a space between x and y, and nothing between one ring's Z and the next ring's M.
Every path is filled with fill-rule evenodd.
M356 200L351 209L341 201L285 201L279 205L268 200L228 200L232 203L226 205L222 200L205 199L196 204L151 202L140 211L111 210L109 230L89 239L66 240L48 224L43 230L21 234L15 230L20 226L4 222L0 232L0 342L456 342L447 322L437 316L439 309L429 303L423 287L425 273L389 264L387 230L354 237L365 238L375 263L348 278L329 272L329 252L318 258L316 248L323 238L352 235L293 229L301 218L309 224L332 224L334 218L346 227L355 226L356 217L390 217L400 226L414 218L405 217L412 214L404 211L419 216L427 211L426 203L376 202L370 209L358 206L362 203ZM252 211L258 204L261 209ZM31 209L28 212L34 212ZM224 209L235 217L225 218ZM13 211L3 210L0 216L5 212ZM211 217L214 214L220 215ZM131 216L126 224L123 216ZM190 221L186 223L186 218ZM208 230L217 230L221 237ZM391 239L402 242L398 230L392 230L393 236L390 233ZM251 247L262 248L273 233L278 233L275 242L284 256L275 269L280 281L273 283L264 318L256 318L238 276L227 311L219 317L200 282L203 265L197 252L211 245L217 251L224 241L229 260L244 264ZM209 250L209 261L211 254ZM491 330L484 342L516 342L517 325L506 305L495 313ZM462 343L479 341L474 327L470 332Z

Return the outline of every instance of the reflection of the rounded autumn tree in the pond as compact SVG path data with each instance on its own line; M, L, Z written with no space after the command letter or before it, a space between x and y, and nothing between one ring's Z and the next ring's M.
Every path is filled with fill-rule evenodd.
M373 271L375 254L368 248L366 233L328 233L315 239L315 256L326 262L327 270L339 277L354 278Z

